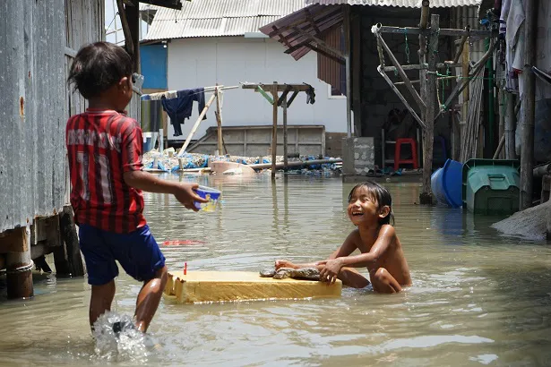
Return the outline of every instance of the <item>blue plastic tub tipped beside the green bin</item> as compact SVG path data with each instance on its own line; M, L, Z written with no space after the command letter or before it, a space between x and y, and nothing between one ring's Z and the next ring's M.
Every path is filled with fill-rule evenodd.
M430 178L430 185L436 200L452 208L460 208L462 201L461 162L448 159Z

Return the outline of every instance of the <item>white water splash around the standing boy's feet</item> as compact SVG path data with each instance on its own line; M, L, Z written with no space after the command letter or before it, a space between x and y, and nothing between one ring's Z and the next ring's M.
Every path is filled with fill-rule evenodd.
M109 362L146 363L159 345L134 327L133 318L106 312L94 323L95 354Z

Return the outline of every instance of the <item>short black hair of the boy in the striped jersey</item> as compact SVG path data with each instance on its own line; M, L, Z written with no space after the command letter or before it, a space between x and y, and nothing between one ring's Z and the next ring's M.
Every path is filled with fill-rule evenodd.
M74 90L90 99L131 76L132 67L132 58L123 47L96 42L83 46L76 54L67 82L74 82Z

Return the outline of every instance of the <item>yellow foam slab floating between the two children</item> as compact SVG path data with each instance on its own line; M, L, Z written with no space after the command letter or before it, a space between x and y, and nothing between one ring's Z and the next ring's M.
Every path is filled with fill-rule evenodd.
M274 279L249 271L170 271L165 294L178 303L340 297L342 282Z

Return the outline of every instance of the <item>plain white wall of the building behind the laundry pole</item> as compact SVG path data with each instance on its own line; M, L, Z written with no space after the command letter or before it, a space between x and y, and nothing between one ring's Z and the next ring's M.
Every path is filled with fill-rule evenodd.
M346 99L329 98L328 84L317 79L316 54L310 52L295 61L284 50L269 38L172 39L168 43L168 90L208 87L217 82L226 86L241 81L306 82L315 89L315 104L306 105L306 94L299 93L288 108L288 124L323 124L326 132L346 132ZM207 93L205 99L210 96ZM272 124L271 105L254 90L227 90L223 102L223 125ZM214 110L209 109L207 120L202 121L194 139L216 125ZM198 115L194 103L193 115L185 120L184 135L178 140L185 140ZM281 108L279 123L282 124ZM174 139L172 125L168 126L168 139Z

